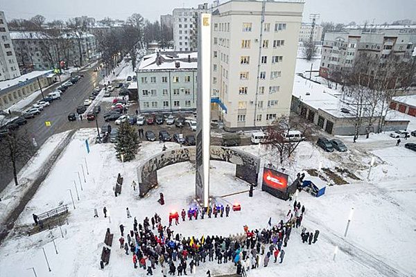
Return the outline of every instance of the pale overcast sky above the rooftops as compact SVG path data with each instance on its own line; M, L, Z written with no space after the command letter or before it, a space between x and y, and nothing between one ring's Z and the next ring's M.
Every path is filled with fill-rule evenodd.
M225 0L223 0L225 1ZM223 2L221 1L221 2ZM96 19L125 19L139 12L150 20L171 13L173 8L195 7L200 0L0 0L6 19L44 15L46 19L68 19L88 15ZM211 3L212 1L208 1ZM320 13L320 21L349 23L416 21L416 0L306 0L304 21L310 13Z

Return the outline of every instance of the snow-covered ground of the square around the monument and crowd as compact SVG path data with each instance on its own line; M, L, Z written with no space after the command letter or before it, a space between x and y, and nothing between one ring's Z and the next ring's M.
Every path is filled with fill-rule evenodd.
M118 249L119 225L132 228L132 218L127 219L125 208L139 221L155 212L162 215L166 224L168 212L172 209L187 208L194 193L194 169L191 163L180 163L158 171L159 186L147 197L139 198L130 184L137 179L135 168L155 152L161 151L159 143L144 142L137 159L121 163L114 157L114 145L94 144L95 130L81 129L74 136L62 157L28 203L16 222L18 228L12 232L0 247L0 276L27 276L28 268L35 267L37 276L144 276L146 271L134 269L131 255ZM85 139L89 140L91 152L87 154ZM177 148L175 143L166 143L168 149ZM257 146L245 146L244 150L257 154ZM45 150L46 151L46 150ZM271 263L269 267L252 270L248 276L415 276L416 255L416 154L403 147L375 150L378 157L372 168L370 181L351 181L344 186L328 186L325 195L312 197L304 192L298 200L306 206L302 222L309 230L320 230L316 244L302 244L300 230L295 230L286 247L282 264ZM335 154L335 153L334 153ZM324 153L311 143L301 143L295 154L294 169L318 168L318 161L325 167L350 166L350 170L365 179L367 167L358 163L367 161L365 155L351 149L346 156ZM268 159L261 148L259 155L263 162ZM404 158L406 157L406 158ZM85 182L82 167L88 167ZM211 162L211 195L223 204L241 203L242 211L230 213L228 218L211 218L192 222L180 222L173 226L175 232L183 235L229 235L242 233L243 225L250 229L266 228L269 217L272 223L284 218L290 202L283 202L268 193L254 190L254 197L247 193L221 197L248 189L248 184L234 178L234 166L220 161ZM363 170L358 170L363 168ZM78 173L80 172L82 190ZM114 197L113 186L118 173L124 177L123 190ZM385 173L387 172L387 173ZM74 184L75 182L75 184ZM79 199L76 196L77 186ZM69 189L74 197L74 209ZM157 203L159 193L165 195L164 206ZM44 231L30 237L22 233L33 224L32 213L42 213L60 204L71 208L68 225L62 226L64 238L59 229ZM103 217L103 206L110 217ZM354 216L349 233L344 238L345 226L351 208ZM94 208L99 217L94 218ZM0 211L2 213L3 211ZM102 271L99 260L105 230L114 233L110 265ZM58 254L55 253L51 235L55 238ZM339 247L336 260L333 251ZM51 266L48 271L42 251L44 249ZM206 276L207 269L216 274L234 273L231 263L218 266L207 262L198 267L195 276ZM159 268L155 276L162 276Z

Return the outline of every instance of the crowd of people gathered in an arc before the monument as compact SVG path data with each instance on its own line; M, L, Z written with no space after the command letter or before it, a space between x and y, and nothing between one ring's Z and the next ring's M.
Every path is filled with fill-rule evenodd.
M222 211L222 208L223 211ZM182 209L182 221L198 220L204 215L215 217L218 215L229 216L229 206L214 206L213 208L189 208L186 212ZM219 210L219 211L218 211ZM171 216L169 225L164 226L162 219L155 213L153 217L146 217L142 223L138 223L136 217L132 230L124 234L125 226L120 225L121 238L120 249L125 255L132 255L132 264L135 269L146 271L146 275L153 275L157 267L164 277L182 276L194 273L196 268L205 262L216 262L217 265L232 262L236 267L236 274L246 276L247 271L258 267L268 267L270 259L273 262L284 261L285 249L291 238L293 228L302 229L302 240L306 238L313 243L318 240L319 231L306 233L301 226L305 208L299 202L294 202L293 211L289 210L286 219L267 229L249 229L243 226L244 232L228 237L218 235L202 235L201 238L184 237L180 233L171 230ZM178 217L178 216L177 216ZM179 221L175 218L175 221ZM178 222L177 222L178 223ZM310 244L311 242L309 242ZM207 276L211 272L207 271Z

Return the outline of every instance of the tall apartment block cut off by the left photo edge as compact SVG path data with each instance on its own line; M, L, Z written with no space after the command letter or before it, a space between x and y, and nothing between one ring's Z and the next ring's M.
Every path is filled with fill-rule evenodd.
M0 35L0 81L17 78L20 71L4 12L0 12Z

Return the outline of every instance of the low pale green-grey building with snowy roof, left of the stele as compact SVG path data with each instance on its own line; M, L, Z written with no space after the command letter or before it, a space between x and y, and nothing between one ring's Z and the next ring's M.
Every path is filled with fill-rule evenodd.
M157 52L144 56L136 71L139 111L196 109L197 58L196 52Z

